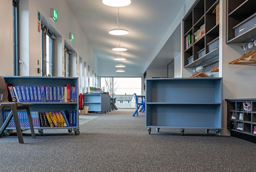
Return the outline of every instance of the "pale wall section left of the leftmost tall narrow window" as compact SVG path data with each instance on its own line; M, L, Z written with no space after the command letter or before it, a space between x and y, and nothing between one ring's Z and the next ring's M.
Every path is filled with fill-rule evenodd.
M0 4L0 76L13 75L13 3L1 0ZM10 15L7 15L11 13Z

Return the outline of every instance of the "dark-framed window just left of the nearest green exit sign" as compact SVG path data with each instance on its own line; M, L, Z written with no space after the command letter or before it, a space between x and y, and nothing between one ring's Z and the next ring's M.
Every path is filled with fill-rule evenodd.
M54 76L55 36L42 25L42 76Z

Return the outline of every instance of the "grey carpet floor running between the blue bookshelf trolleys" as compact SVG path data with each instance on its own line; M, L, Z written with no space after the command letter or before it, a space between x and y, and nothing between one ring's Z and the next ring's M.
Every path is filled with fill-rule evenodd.
M0 171L256 171L256 144L234 137L206 135L204 130L160 129L149 135L144 115L132 110L100 114L67 130L44 130L25 144L15 134L0 138ZM36 132L38 133L38 132Z

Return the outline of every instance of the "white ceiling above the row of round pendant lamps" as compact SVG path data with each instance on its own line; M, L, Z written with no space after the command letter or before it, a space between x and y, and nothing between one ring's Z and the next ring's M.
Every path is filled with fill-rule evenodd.
M110 68L113 67L114 71L118 62L113 58L119 53L112 51L112 48L118 46L118 36L110 35L108 31L118 25L118 8L104 5L102 0L67 2L99 60L113 62ZM121 53L127 58L122 63L143 70L184 2L185 0L132 0L131 5L121 7L121 27L130 32L121 36L121 46L128 48L128 51Z

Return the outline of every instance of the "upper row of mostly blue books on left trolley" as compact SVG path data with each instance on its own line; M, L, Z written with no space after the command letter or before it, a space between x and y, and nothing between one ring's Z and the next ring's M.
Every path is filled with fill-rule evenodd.
M6 83L11 102L76 102L76 87L70 86L12 86Z

